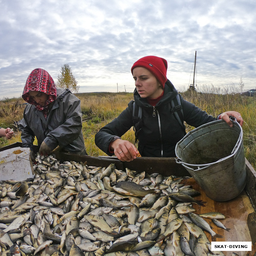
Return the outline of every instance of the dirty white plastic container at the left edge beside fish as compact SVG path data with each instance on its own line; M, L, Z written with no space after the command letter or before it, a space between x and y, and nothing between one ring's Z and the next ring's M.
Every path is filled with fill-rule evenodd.
M16 147L0 152L0 180L22 181L33 177L30 148Z

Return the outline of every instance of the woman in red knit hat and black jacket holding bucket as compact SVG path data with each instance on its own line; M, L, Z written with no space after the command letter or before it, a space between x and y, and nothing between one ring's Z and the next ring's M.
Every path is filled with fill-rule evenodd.
M134 102L142 109L142 124L135 127L138 149L120 137L133 124L133 101L112 122L95 135L95 144L109 156L116 155L121 161L132 161L139 154L148 157L175 157L175 146L184 136L184 129L175 118L170 102L179 95L184 121L194 127L223 119L233 126L229 116L234 116L242 126L238 112L228 111L213 117L194 104L184 100L167 79L167 61L157 56L146 56L132 66L136 89ZM139 129L139 131L137 131Z

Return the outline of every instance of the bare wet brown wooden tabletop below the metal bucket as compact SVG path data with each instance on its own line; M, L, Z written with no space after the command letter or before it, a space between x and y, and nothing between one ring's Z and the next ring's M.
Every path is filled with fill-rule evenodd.
M197 200L203 200L207 202L205 207L193 204L196 209L196 214L207 212L220 212L226 216L225 219L220 220L225 227L230 228L230 231L226 231L223 228L217 227L211 219L206 219L212 230L223 236L223 238L216 238L216 242L251 242L251 235L247 225L247 217L249 213L255 212L251 200L245 190L236 198L225 201L217 202L207 197L204 191L199 187L193 178L189 178L184 181L186 185L192 185L192 188L201 192L200 196L194 197ZM223 188L225 189L225 188ZM221 191L220 191L221 193ZM255 227L256 228L256 227ZM212 242L211 235L205 231L209 241ZM234 249L235 250L235 249ZM232 252L236 252L239 256L253 256L249 251L222 251L226 256L231 256Z

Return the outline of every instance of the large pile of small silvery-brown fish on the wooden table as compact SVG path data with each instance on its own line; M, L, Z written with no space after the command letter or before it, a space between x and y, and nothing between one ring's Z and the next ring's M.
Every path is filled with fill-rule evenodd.
M0 255L204 256L212 251L193 213L199 192L183 178L36 157L33 179L0 182ZM222 225L222 226L221 226ZM225 228L227 231L228 228Z

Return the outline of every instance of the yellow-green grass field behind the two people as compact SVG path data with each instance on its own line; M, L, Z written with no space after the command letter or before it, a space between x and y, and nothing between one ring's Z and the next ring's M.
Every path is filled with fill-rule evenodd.
M256 169L256 97L245 97L239 93L212 92L209 88L205 93L195 91L181 92L185 100L194 103L212 116L235 110L241 113L244 119L244 149L245 157ZM81 100L83 113L83 134L86 151L90 156L105 156L94 144L94 136L99 129L118 116L133 99L133 93L99 92L78 93L76 96ZM20 132L15 129L15 122L22 119L25 101L22 98L3 99L0 101L0 126L14 128L15 136L11 140L0 138L0 148L18 142ZM193 127L186 124L187 132ZM132 128L123 137L125 140L134 142ZM36 141L34 144L36 145Z

